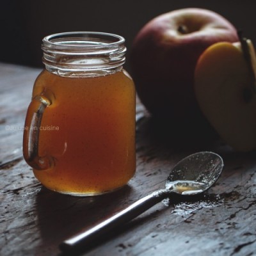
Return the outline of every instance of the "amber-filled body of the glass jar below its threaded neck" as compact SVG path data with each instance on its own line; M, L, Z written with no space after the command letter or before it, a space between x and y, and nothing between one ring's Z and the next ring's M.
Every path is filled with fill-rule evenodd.
M86 68L85 75L83 70L62 70L61 76L58 68L51 71L45 69L33 88L33 99L39 95L41 102L50 102L40 127L33 129L40 129L38 157L51 157L51 164L33 164L35 159L24 154L35 177L45 187L69 195L99 195L124 186L136 168L131 77L120 66L111 72L90 71L90 76ZM25 151L33 127L29 116L38 112L34 105L26 118Z

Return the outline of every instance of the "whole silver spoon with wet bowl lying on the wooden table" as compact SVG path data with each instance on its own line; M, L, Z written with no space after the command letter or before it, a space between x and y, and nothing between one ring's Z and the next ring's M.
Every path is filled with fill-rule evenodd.
M63 241L60 244L60 249L63 252L68 252L86 248L100 236L132 220L153 205L171 196L172 193L179 195L202 193L214 184L222 169L223 160L218 154L212 152L192 154L175 165L166 180L165 189L150 193L95 227Z

